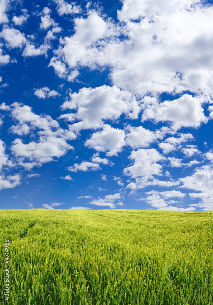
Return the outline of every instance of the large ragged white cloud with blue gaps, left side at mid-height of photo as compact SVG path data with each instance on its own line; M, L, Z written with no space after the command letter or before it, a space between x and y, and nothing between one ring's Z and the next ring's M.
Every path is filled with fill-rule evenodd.
M20 138L12 142L11 150L19 165L31 169L43 163L61 157L69 149L73 149L66 141L75 139L75 135L68 129L60 128L57 121L49 115L37 115L29 106L18 103L12 105L12 117L18 122L10 127L14 134L27 135L36 131L37 139L24 144Z

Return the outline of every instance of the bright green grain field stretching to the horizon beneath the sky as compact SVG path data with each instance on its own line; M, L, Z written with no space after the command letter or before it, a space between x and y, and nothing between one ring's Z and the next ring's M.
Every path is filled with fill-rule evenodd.
M30 209L0 219L0 304L213 304L213 212Z

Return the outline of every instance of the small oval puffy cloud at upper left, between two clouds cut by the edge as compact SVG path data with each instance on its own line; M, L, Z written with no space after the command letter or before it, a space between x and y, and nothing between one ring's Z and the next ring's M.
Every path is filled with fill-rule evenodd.
M7 48L22 48L26 43L24 34L16 29L5 28L0 33L0 36L5 39Z

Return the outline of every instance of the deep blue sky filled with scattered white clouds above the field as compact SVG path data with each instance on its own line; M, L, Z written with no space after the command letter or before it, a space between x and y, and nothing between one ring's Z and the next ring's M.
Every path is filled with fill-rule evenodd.
M0 208L213 210L213 4L0 0Z

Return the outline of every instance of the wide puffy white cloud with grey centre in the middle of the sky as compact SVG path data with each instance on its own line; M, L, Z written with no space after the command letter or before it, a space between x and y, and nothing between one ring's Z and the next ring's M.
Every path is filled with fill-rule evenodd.
M136 119L140 107L132 93L122 91L116 86L103 85L70 93L70 100L65 101L61 109L76 110L76 113L62 114L60 118L72 122L72 129L80 131L103 127L104 120L117 120L122 113L126 118ZM76 120L79 122L74 123Z

